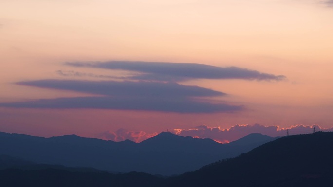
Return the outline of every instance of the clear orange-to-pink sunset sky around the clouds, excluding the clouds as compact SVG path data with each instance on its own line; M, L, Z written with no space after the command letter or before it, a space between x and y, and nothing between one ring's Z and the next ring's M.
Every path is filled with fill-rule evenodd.
M100 137L120 128L147 133L206 124L259 123L331 128L333 7L325 0L1 0L0 103L89 93L16 85L21 81L108 80L61 76L126 71L65 62L146 61L235 66L284 75L282 81L192 79L245 110L177 113L109 109L0 107L0 131L37 136Z

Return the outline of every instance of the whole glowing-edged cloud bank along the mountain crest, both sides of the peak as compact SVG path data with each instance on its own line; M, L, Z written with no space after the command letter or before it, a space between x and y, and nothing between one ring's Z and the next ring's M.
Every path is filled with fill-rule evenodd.
M289 127L289 135L297 134L309 134L315 131L333 131L333 127L329 129L323 129L319 125L295 125ZM208 127L206 125L200 125L192 129L174 129L173 133L179 136L191 136L198 138L210 138L220 143L228 143L238 140L251 133L260 133L263 135L277 137L286 136L287 129L279 129L278 126L263 126L259 124L255 125L235 125L228 129L221 129L220 127ZM144 131L127 131L125 129L119 129L115 132L107 131L101 134L101 138L112 141L124 141L126 139L141 142L150 137L156 136L158 133L146 133Z

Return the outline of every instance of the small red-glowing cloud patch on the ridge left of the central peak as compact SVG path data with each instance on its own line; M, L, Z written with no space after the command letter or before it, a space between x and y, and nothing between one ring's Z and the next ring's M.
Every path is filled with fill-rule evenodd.
M146 133L144 131L127 131L118 129L117 131L107 131L101 134L101 138L112 141L124 141L126 139L139 143L145 139L156 136L157 133Z

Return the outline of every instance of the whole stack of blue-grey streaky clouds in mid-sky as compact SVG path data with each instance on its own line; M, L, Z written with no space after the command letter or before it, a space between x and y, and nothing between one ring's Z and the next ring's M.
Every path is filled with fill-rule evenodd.
M68 90L93 94L91 97L40 99L35 102L0 103L4 107L23 108L97 108L116 110L145 110L177 113L215 113L243 110L213 100L226 93L199 86L177 83L185 79L248 79L282 80L283 75L260 73L237 67L215 67L203 64L110 61L95 63L66 63L73 67L105 68L135 72L128 77L82 73L74 70L57 73L62 76L110 78L104 81L44 79L22 81L17 85ZM114 81L117 80L117 81Z

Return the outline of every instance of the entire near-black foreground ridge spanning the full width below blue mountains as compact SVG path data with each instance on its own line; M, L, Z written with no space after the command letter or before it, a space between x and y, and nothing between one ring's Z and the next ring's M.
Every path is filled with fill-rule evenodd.
M176 177L131 172L0 170L2 187L332 187L333 132L282 137Z

